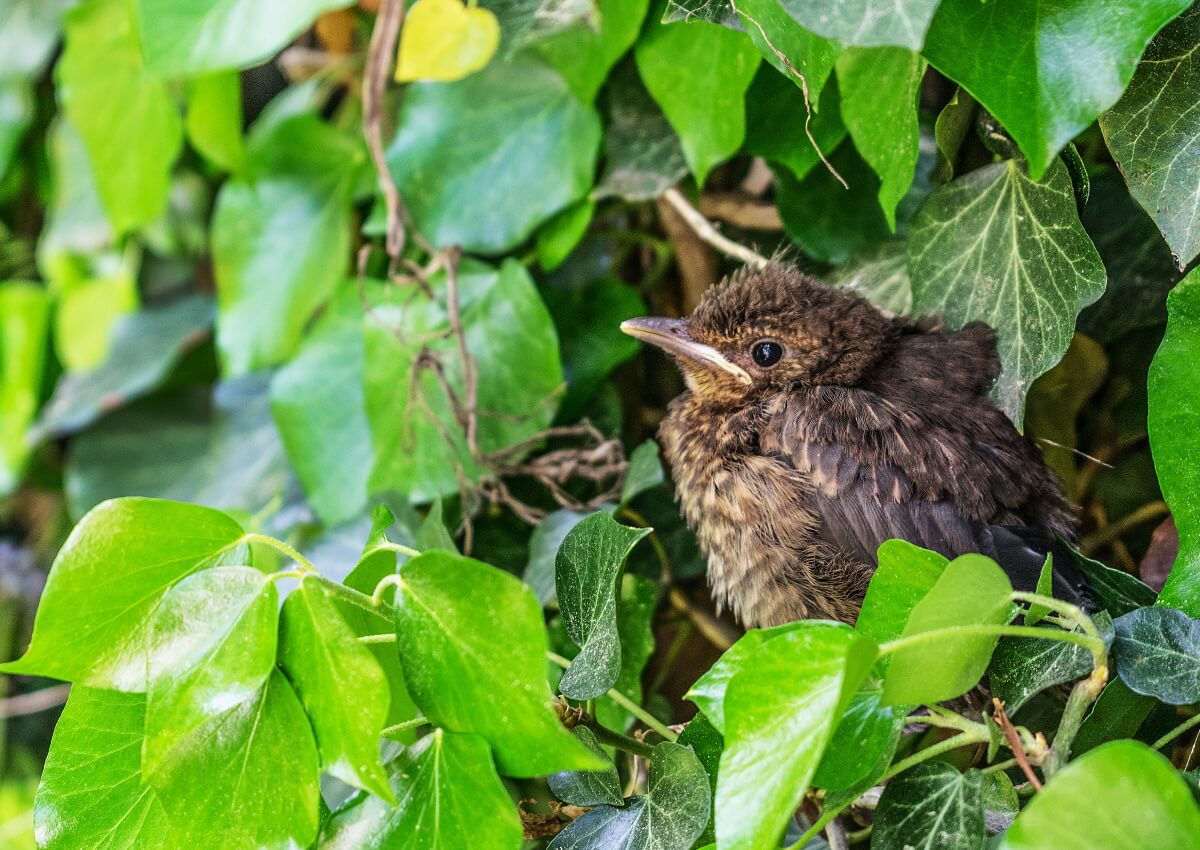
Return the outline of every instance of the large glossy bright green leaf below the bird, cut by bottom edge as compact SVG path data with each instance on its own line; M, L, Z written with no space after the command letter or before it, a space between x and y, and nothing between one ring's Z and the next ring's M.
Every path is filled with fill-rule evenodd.
M716 782L722 849L779 842L875 652L850 627L802 622L739 665L725 695Z

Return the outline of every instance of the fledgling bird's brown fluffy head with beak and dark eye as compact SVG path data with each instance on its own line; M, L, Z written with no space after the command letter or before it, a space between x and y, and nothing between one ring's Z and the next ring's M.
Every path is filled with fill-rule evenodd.
M779 263L714 286L688 318L635 318L620 329L671 354L692 393L725 402L856 384L896 333L866 300Z

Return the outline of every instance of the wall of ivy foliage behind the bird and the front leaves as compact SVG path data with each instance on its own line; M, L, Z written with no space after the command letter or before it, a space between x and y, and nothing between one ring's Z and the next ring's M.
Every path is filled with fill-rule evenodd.
M1150 367L1200 252L1200 13L1051 5L488 0L486 67L400 86L377 2L0 0L4 652L116 496L223 508L334 577L386 503L395 539L454 532L542 603L617 501L670 564L634 552L620 687L686 719L734 631L632 451L679 381L617 325L739 264L692 206L889 310L995 325L997 403L1081 549L1162 587L1181 537L1196 558L1195 285ZM1196 575L1166 591L1193 615ZM13 846L46 687L8 681Z

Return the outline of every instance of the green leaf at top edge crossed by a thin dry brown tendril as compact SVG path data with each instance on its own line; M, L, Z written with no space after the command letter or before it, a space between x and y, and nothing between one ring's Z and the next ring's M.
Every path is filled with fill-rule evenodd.
M812 110L823 109L823 104L816 102L817 94L826 88L841 46L800 26L784 5L773 0L738 0L737 8L750 41L762 58L802 92L800 108L804 108L803 92L806 89Z

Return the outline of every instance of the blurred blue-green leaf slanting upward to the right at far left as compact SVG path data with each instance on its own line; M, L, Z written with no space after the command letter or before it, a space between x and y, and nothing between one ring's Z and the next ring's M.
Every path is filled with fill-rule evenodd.
M211 323L212 301L199 295L118 319L104 363L59 378L37 424L38 435L73 433L154 389L205 339Z

